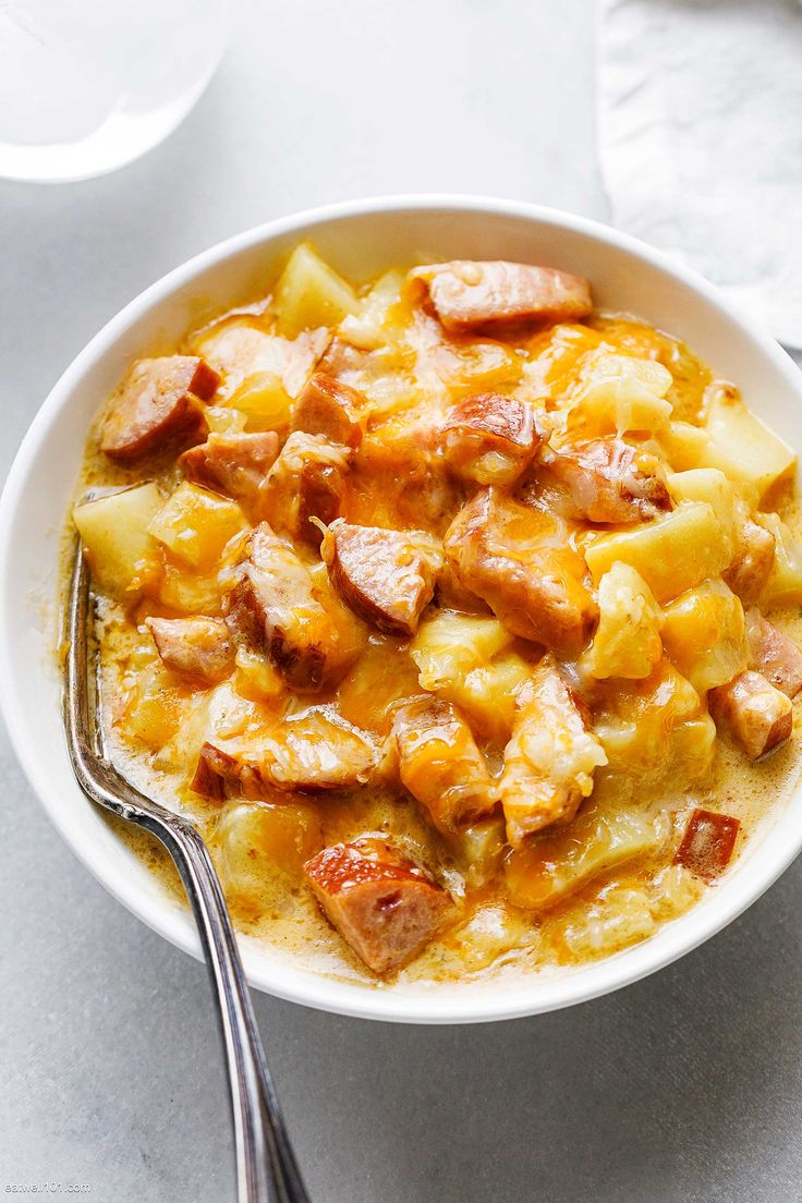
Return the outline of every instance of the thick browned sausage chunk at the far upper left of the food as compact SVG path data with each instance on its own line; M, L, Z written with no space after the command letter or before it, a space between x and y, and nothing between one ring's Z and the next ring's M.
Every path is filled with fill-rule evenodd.
M101 451L127 462L202 443L208 426L201 402L209 401L219 380L194 355L139 360L108 407L100 431Z

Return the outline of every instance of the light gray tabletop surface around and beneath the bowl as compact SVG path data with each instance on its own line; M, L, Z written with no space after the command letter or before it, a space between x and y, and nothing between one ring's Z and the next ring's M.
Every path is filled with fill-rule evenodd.
M590 0L274 0L196 111L106 179L0 185L0 469L88 338L189 255L390 191L606 215ZM232 1149L201 965L108 897L5 737L0 1191L222 1203ZM797 1201L802 869L647 982L501 1025L384 1026L260 996L320 1203Z

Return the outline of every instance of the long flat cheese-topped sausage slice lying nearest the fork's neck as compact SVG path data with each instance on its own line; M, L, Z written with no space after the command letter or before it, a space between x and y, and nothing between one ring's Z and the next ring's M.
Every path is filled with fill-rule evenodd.
M311 710L284 719L280 731L262 735L256 743L204 743L192 788L212 798L226 790L271 798L275 790L350 789L369 780L376 760L376 749L362 731Z

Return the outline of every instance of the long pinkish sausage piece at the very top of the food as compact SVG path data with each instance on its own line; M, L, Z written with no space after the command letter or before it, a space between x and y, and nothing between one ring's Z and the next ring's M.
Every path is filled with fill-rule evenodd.
M593 312L587 280L531 263L455 260L415 267L406 290L412 297L428 292L446 330L497 321L578 321Z

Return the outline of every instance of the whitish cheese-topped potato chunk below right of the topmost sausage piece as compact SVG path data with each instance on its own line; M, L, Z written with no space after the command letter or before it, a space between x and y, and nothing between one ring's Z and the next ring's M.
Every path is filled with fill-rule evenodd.
M671 417L671 402L665 399L670 387L671 373L657 360L602 355L593 363L570 425L599 434L659 431Z

